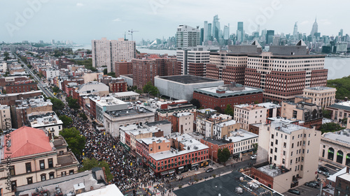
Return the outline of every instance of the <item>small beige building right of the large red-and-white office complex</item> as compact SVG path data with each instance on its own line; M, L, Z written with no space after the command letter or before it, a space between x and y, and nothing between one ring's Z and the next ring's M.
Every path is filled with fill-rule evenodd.
M327 86L309 87L302 91L302 96L311 98L311 103L325 108L335 103L335 91L337 89Z

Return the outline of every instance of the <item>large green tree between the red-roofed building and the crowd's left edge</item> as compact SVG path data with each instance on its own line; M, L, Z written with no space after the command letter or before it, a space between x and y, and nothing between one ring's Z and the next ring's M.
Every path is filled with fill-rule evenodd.
M80 132L76 128L64 128L59 135L64 137L64 140L66 140L66 143L76 157L80 157L83 154L86 139L83 135L80 135Z

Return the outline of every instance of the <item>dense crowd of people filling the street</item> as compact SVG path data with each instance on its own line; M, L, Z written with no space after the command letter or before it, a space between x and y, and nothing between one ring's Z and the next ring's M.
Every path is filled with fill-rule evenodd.
M92 126L93 123L89 119L83 121L68 105L62 110L62 114L71 117L73 120L71 126L86 137L84 157L95 158L98 161L105 160L109 163L109 169L113 175L109 183L115 183L123 193L161 182L160 179L148 173L148 169L143 167L139 158L132 156L120 144L118 137L112 137L104 130Z

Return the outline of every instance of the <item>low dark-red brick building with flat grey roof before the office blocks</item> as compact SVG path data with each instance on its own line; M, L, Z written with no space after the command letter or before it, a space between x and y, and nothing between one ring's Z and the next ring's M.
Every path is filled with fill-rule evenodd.
M262 103L262 89L242 86L241 84L226 84L223 86L195 89L193 98L200 101L202 107L221 107L225 110L227 105Z

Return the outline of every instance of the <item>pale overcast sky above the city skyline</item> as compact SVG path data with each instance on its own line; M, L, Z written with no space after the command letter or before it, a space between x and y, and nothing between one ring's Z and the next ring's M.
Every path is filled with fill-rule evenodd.
M91 43L121 38L131 29L138 31L134 40L154 40L174 36L179 24L202 28L216 14L221 29L230 23L230 33L235 33L242 21L249 34L257 24L260 32L293 33L297 22L298 31L309 35L317 16L321 36L336 36L339 29L350 33L349 7L349 0L2 0L0 41Z

